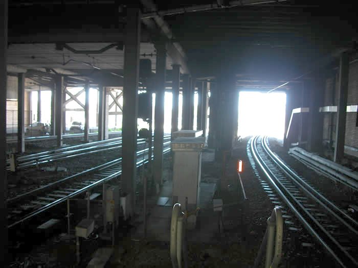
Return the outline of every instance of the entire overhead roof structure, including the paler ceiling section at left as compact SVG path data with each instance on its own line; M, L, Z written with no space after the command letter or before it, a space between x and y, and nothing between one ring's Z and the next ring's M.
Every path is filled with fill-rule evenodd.
M166 38L167 68L215 77L230 69L241 76L288 81L338 48L355 44L349 5L317 1L142 0L141 58L152 61ZM19 15L21 19L19 19ZM91 76L123 74L126 6L110 0L10 0L8 64L18 69ZM46 25L46 27L44 27Z

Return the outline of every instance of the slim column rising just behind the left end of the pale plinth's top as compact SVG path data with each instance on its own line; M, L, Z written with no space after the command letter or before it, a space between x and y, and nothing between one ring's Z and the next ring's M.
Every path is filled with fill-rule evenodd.
M173 64L172 76L171 133L178 130L180 65Z

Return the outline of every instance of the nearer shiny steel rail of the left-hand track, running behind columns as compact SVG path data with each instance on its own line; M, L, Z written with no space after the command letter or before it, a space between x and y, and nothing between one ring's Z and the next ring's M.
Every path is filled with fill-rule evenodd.
M168 145L169 143L170 143L170 141L164 142L164 143L163 143L163 146ZM137 156L140 156L140 155L142 155L142 154L145 154L147 151L149 151L148 148L147 148L147 149L144 149L144 150L141 150L141 151L138 151L138 152L137 152ZM163 150L163 154L166 154L166 153L168 153L168 152L170 152L170 148L167 148L167 149L164 149L164 150ZM153 156L152 156L151 158L153 158ZM113 163L114 161L117 161L117 162ZM116 160L114 160L114 161L111 161L112 163L110 164L110 166L113 166L114 164L119 164L119 163L121 163L121 162L122 162L122 158L116 159ZM141 166L141 165L143 165L143 164L145 164L145 163L147 163L147 162L148 162L148 159L142 159L142 160L140 160L140 161L137 161L137 167L139 167L139 166ZM101 168L101 169L104 169L104 168L107 168L107 167L103 167L103 168ZM38 215L38 214L40 214L40 213L42 213L42 212L44 212L44 211L50 209L50 208L52 208L52 207L54 207L54 206L56 206L56 205L58 205L58 204L60 204L60 203L63 203L63 202L66 201L66 200L72 199L72 198L78 196L79 194L81 194L81 193L83 193L83 192L85 192L85 191L88 191L89 189L92 189L92 188L94 188L94 187L96 187L96 186L99 186L99 185L101 185L101 184L103 184L103 183L105 183L105 182L107 182L107 181L109 181L109 180L111 180L111 179L117 178L117 177L119 177L121 174L122 174L122 169L120 169L120 170L119 170L118 172L116 172L116 173L113 173L113 174L111 174L111 175L106 176L105 178L102 178L102 179L96 181L95 183L89 184L89 185L87 185L87 186L85 186L85 187L83 187L83 188L81 188L81 189L79 189L79 190L77 190L77 191L75 191L75 192L73 192L73 193L70 193L70 194L68 194L68 195L65 196L65 197L62 197L62 198L60 198L60 199L57 199L56 201L51 202L51 203L48 204L48 205L45 205L45 206L43 206L43 207L41 207L41 208L38 208L38 209L36 209L35 211L33 211L33 212L29 213L28 215L26 215L25 217L21 218L20 220L14 222L14 223L12 223L12 224L10 224L10 225L8 226L8 229L10 229L10 228L12 228L12 227L14 227L14 226L16 226L16 225L18 225L18 224L20 224L20 223L23 223L23 222L29 220L30 218L32 218L32 217L34 217L34 216L36 216L36 215Z

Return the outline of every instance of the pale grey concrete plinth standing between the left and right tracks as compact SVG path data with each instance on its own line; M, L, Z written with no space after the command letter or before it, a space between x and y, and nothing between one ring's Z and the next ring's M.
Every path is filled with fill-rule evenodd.
M173 157L173 203L178 202L191 214L188 228L196 225L196 208L200 200L202 149L205 138L178 137L171 143ZM186 199L188 206L185 207Z

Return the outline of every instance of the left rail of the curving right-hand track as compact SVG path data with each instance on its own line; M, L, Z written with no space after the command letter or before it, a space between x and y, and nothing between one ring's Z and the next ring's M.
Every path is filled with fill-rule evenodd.
M302 225L306 228L306 230L315 237L318 242L337 260L343 267L348 268L343 261L339 258L339 256L334 252L334 250L328 245L328 243L321 237L321 235L312 227L305 217L299 212L296 206L286 197L286 195L281 191L280 187L276 184L274 179L274 174L271 172L270 168L267 166L265 161L262 159L262 156L258 152L256 141L258 136L251 139L251 150L256 162L261 167L263 173L266 175L267 179L269 180L270 184L275 188L276 192L279 194L281 199L286 203L286 205L293 211L293 213L297 216L298 220L302 223ZM271 174L271 175L270 175ZM285 188L285 187L284 187ZM292 197L292 194L291 194ZM292 197L295 199L294 197Z

